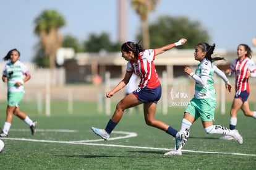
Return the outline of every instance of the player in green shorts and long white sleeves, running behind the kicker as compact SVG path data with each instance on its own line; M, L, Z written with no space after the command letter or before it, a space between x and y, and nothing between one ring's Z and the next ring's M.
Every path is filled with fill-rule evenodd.
M215 44L199 43L195 48L195 60L200 61L195 74L189 67L185 67L184 72L189 74L195 80L195 95L184 113L181 124L181 133L184 133L184 139L179 141L176 139L175 149L165 153L164 155L182 155L181 148L189 138L190 126L201 118L203 128L207 134L230 135L237 142L242 144L242 136L237 130L230 130L222 125L213 125L213 117L216 106L216 95L213 86L213 73L217 74L226 83L226 89L230 92L232 85L229 83L226 75L213 64L213 61L224 59L223 57L211 57L215 49Z

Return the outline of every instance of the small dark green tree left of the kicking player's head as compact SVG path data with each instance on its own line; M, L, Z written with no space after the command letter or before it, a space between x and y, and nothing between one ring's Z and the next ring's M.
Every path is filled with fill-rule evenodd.
M120 51L120 43L112 43L108 33L101 33L101 35L95 35L94 33L89 35L87 41L83 43L83 48L89 53L98 53L100 51L116 52Z

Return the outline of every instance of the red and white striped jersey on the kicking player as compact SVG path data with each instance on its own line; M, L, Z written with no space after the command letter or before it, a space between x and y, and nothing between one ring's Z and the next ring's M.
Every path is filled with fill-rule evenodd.
M156 73L155 49L145 49L139 54L137 61L127 62L126 72L134 72L140 77L139 87L155 88L160 85L158 74Z

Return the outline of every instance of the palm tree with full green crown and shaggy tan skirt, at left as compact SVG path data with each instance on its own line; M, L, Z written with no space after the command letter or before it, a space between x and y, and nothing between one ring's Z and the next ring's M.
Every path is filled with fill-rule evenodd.
M58 29L65 25L65 20L61 14L54 10L45 10L35 19L36 35L40 36L40 42L49 56L49 67L55 68L55 56L59 47L62 45L62 36Z

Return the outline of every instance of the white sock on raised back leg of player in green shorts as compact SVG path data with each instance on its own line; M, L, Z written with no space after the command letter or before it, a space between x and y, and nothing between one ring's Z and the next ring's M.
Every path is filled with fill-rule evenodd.
M229 135L232 136L234 132L222 125L211 125L209 127L206 127L205 132L207 134L221 134L221 135Z

